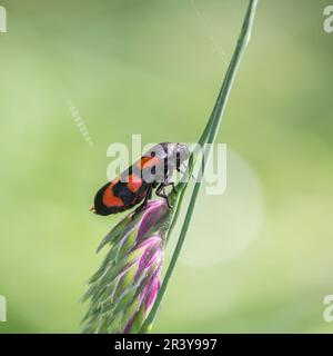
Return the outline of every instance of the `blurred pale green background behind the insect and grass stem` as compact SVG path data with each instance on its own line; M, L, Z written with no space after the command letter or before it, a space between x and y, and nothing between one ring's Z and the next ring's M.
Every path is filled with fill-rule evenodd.
M95 247L119 219L89 211L107 147L132 134L198 139L248 1L0 4L0 333L78 333ZM219 135L231 149L226 194L203 190L155 332L333 332L323 319L333 294L326 4L260 1Z

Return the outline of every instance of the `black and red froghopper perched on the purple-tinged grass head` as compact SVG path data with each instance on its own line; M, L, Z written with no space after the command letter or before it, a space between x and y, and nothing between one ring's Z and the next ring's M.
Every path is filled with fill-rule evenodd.
M188 160L190 151L184 144L162 142L155 145L144 154L137 162L123 171L118 178L105 184L95 195L91 210L98 215L111 215L128 210L140 202L135 211L140 211L151 199L152 191L167 199L164 194L167 186L176 169Z

